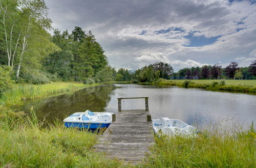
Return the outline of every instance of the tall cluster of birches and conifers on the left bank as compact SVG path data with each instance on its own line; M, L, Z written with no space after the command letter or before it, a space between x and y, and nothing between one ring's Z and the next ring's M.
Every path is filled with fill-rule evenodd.
M3 80L85 81L108 67L91 31L76 26L51 35L51 24L44 0L0 0L0 73L9 74Z

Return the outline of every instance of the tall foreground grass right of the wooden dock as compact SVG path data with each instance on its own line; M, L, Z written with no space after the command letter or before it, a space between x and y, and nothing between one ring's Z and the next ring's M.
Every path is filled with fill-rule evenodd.
M144 166L255 167L256 134L253 126L247 131L233 126L207 128L194 138L155 136L152 155L147 156Z

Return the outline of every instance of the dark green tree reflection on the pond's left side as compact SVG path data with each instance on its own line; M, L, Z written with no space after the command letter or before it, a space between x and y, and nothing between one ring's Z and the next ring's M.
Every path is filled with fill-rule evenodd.
M64 119L65 116L77 111L105 111L113 91L114 85L103 85L82 89L74 94L60 95L56 97L27 101L24 110L29 111L33 105L39 119L47 117L52 122L56 117Z

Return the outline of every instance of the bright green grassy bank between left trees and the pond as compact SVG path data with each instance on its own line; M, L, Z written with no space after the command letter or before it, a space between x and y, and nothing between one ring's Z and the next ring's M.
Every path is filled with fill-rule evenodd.
M0 97L0 105L8 107L21 105L24 100L56 96L96 85L100 84L85 85L82 82L51 82L44 85L15 84L12 90L3 93Z

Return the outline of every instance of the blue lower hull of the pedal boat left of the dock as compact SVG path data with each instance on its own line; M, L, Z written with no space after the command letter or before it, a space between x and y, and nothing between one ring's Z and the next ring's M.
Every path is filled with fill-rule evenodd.
M64 125L67 128L85 128L85 129L98 129L98 128L108 128L111 123L75 123L75 122L65 122Z

